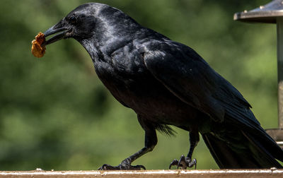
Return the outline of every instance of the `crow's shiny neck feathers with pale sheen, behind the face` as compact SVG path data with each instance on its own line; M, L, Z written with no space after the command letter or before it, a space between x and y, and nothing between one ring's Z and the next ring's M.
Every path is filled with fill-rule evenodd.
M136 37L146 35L143 28L134 19L117 8L102 8L96 14L96 25L93 34L88 39L78 40L96 61L107 61L117 49L125 47Z

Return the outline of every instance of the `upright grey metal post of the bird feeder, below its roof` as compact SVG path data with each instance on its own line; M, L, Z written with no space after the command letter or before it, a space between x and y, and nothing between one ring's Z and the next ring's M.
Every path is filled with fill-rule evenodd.
M278 126L283 129L283 17L277 17Z

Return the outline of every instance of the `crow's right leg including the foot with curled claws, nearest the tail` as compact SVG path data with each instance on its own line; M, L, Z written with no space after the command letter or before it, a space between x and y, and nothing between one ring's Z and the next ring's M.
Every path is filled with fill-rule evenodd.
M187 156L181 155L180 160L174 159L169 165L169 170L171 170L171 166L176 165L177 168L181 168L182 170L186 170L187 167L193 167L195 165L195 169L197 168L197 160L192 160L192 152L194 151L197 143L200 141L200 136L198 131L190 131L190 150L187 153Z

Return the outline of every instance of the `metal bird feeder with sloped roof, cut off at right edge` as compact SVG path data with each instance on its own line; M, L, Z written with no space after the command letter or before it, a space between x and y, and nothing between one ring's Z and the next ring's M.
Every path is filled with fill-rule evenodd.
M267 133L283 148L283 0L273 0L265 6L234 14L234 20L248 23L277 24L278 129Z

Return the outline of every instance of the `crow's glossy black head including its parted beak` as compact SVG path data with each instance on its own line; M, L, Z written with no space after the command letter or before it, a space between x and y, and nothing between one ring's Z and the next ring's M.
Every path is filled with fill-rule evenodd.
M44 34L45 37L54 35L45 42L49 45L58 40L67 39L69 37L81 42L88 39L108 38L105 35L115 37L112 32L122 35L125 32L123 28L127 28L125 21L131 21L131 26L135 24L132 18L125 13L112 8L106 4L88 3L78 6L71 11L66 17L59 21L56 25L49 28ZM112 32L111 32L112 31ZM105 34L103 36L103 34ZM99 40L99 39L98 39Z

